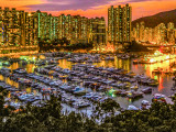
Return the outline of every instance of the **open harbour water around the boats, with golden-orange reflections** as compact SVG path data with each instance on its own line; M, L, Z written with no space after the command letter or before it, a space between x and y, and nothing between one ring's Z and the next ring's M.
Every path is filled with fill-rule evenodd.
M114 61L102 61L101 63L97 63L94 65L97 66L103 66L103 67L116 67L116 68L124 68L129 72L134 72L135 74L145 74L148 77L155 78L158 80L160 85L158 87L154 87L153 88L153 92L150 95L144 95L143 98L138 99L138 100L131 100L128 99L125 97L116 97L116 95L110 95L112 96L117 102L119 102L121 105L121 107L123 108L128 108L129 105L134 105L136 107L141 106L141 101L142 100L148 100L151 101L153 94L160 92L160 94L164 94L166 96L170 96L173 94L173 91L170 90L174 81L173 81L173 76L168 76L168 75L153 75L152 70L157 68L157 67L162 67L164 70L169 70L169 64L172 64L173 62L175 62L176 59L169 59L163 63L156 63L156 64L138 64L138 65L133 65L133 59L119 59L116 57ZM58 61L58 66L63 67L63 68L72 68L73 63L67 62L66 59L61 59ZM2 66L1 66L2 67ZM23 67L26 69L28 73L33 73L34 68L36 67L34 64L28 64L25 66L22 66L21 64L18 63L13 63L9 68L11 69L16 69L19 67ZM6 80L7 84L10 84L12 86L15 86L16 88L23 88L23 86L20 86L18 82L14 82L12 80L10 80L9 78L4 78L3 76L0 76L1 80ZM141 90L142 88L144 88L144 86L140 86ZM36 90L32 90L31 88L25 88L23 89L26 92L34 92L37 94Z

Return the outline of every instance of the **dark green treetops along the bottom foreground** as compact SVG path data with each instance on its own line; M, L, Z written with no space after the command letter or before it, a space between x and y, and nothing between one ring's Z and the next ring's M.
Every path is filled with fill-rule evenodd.
M175 132L176 107L155 102L143 111L123 111L111 114L101 123L95 118L70 112L62 113L61 98L51 96L44 107L28 105L19 112L3 108L7 91L0 88L0 131L1 132ZM174 98L176 99L176 98ZM119 108L116 101L108 99L97 106L97 110L114 112ZM8 111L8 112L4 112ZM7 119L7 121L4 121Z

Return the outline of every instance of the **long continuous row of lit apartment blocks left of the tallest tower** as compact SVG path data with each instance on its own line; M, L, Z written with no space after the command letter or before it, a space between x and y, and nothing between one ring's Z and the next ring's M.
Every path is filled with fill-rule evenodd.
M106 21L103 18L88 19L80 15L46 12L24 12L0 8L1 46L32 46L38 40L67 38L74 43L106 44Z

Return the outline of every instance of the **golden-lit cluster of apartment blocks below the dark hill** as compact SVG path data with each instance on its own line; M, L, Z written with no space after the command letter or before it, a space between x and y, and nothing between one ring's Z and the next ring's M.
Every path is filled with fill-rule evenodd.
M136 42L175 44L176 30L173 22L167 23L167 26L164 23L160 23L155 28L147 28L144 22L141 22L140 24L136 23L136 28L133 28L132 37Z

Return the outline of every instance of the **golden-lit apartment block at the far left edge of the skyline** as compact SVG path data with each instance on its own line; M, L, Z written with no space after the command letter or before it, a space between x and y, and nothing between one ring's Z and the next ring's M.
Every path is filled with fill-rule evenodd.
M0 8L0 43L1 46L18 46L23 44L24 12Z

